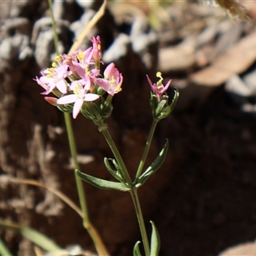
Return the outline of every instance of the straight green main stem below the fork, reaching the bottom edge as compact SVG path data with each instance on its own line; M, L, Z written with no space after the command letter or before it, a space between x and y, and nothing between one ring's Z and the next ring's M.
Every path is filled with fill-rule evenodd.
M131 189L130 194L131 194L131 198L132 198L132 201L133 201L133 204L135 207L137 221L138 221L138 224L139 224L139 227L141 230L141 235L143 238L143 247L144 247L145 255L149 256L150 248L149 248L149 243L148 243L148 236L147 236L147 231L146 231L145 224L144 224L142 208L140 206L140 201L139 201L138 195L137 195L137 189Z

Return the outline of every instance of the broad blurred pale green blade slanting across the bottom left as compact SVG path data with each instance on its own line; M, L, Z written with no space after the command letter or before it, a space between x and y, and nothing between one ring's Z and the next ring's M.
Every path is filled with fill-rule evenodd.
M42 247L45 251L56 252L61 250L61 247L57 246L49 237L38 232L38 230L4 222L0 222L0 227L20 233L20 235L26 237L26 239L38 245L38 247Z

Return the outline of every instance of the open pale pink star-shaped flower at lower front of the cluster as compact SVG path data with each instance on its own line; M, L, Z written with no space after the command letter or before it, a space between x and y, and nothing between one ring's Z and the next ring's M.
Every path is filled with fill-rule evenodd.
M57 100L57 104L73 104L73 118L75 119L80 109L83 107L84 102L93 102L99 98L98 95L88 93L90 87L90 79L85 82L84 79L73 81L70 89L73 90L73 94L62 96Z

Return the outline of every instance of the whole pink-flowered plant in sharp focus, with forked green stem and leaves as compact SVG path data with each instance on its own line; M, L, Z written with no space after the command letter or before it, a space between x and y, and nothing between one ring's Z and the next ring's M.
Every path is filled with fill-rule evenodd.
M103 64L100 37L92 38L91 43L92 47L84 51L79 49L69 55L56 56L51 67L42 71L42 76L40 78L36 77L35 80L44 88L42 95L44 95L47 102L58 107L61 111L73 112L74 119L79 113L82 113L98 126L99 131L102 132L114 156L114 159L104 159L105 166L108 172L110 172L118 182L110 182L108 180L92 177L84 172L79 172L78 169L76 170L76 177L98 188L117 189L123 192L129 191L137 212L145 254L147 256L149 254L158 255L160 238L154 223L151 222L153 231L151 246L149 247L137 189L145 183L149 176L160 168L165 160L168 142L166 142L165 147L160 151L159 156L154 160L152 165L144 170L144 163L147 159L148 149L153 138L155 126L160 119L166 118L172 112L177 102L178 92L177 90L175 91L175 96L172 102L169 103L169 96L166 91L172 80L169 80L167 84L164 85L161 73L157 73L156 76L159 78L159 81L152 83L147 75L148 83L151 87L150 107L152 108L154 122L148 133L148 141L137 169L136 178L132 181L125 163L119 154L119 150L116 148L108 132L108 125L104 123L104 120L112 113L113 96L122 90L123 76L119 73L114 63L110 63L103 74L100 73L100 64ZM55 97L48 96L49 93L54 94ZM116 170L113 170L113 166ZM134 255L141 255L138 242L134 247Z

